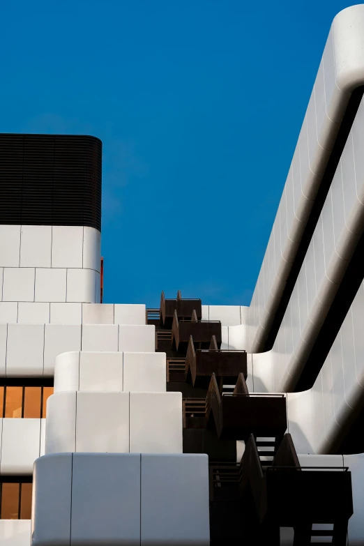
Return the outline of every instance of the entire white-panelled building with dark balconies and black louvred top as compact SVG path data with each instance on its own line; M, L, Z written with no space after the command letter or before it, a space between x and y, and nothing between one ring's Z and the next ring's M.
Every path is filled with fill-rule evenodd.
M363 92L358 5L249 308L100 303L100 141L0 135L1 546L364 544Z

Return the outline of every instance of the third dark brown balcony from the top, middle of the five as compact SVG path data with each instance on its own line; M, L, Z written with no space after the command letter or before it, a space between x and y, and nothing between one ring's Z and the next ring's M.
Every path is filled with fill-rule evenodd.
M195 343L190 337L185 359L186 380L194 387L208 388L212 374L226 385L235 385L238 375L242 373L246 379L246 351L225 351L218 349L215 335L211 338L209 349L195 350Z

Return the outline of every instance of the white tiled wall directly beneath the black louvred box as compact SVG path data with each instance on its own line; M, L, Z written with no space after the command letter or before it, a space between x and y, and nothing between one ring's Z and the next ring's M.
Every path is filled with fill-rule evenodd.
M86 226L0 225L0 284L0 301L7 303L1 313L11 321L17 302L99 302L100 232ZM45 312L39 305L38 313Z

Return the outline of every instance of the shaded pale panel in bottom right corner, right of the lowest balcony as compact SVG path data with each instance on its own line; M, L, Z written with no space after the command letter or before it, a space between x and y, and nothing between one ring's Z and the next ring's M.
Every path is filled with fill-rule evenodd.
M349 546L363 544L364 536L364 453L359 455L344 455L344 467L351 472L351 487L353 491L354 514L349 520Z

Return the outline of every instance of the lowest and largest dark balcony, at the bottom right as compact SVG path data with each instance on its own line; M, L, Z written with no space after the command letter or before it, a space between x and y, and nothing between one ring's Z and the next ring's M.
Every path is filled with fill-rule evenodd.
M240 464L212 463L210 501L241 501L254 514L257 543L280 544L280 527L294 528L294 545L309 545L312 537L347 544L347 524L353 514L351 473L347 467L301 467L290 434L285 434L271 466L261 464L253 436ZM314 530L325 524L326 530ZM331 529L329 529L331 527ZM331 542L331 540L330 540Z

